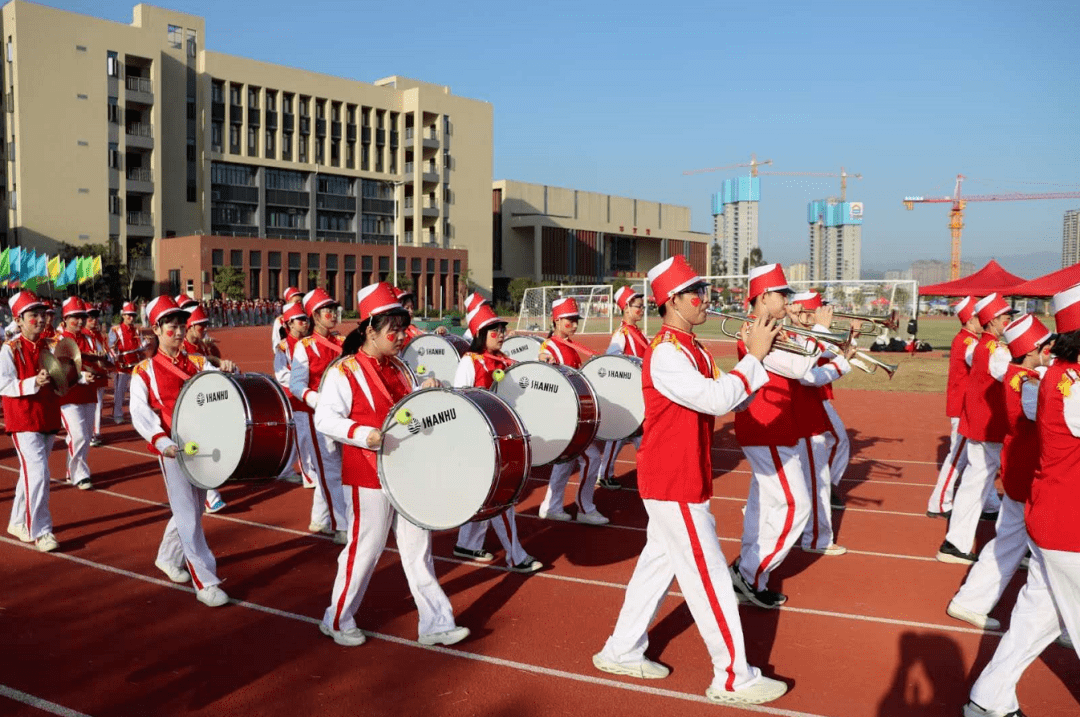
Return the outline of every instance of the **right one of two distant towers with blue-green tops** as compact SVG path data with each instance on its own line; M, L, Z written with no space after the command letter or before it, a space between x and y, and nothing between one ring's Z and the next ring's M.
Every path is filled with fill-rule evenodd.
M810 280L860 279L863 203L814 200L807 205L807 221L810 224Z

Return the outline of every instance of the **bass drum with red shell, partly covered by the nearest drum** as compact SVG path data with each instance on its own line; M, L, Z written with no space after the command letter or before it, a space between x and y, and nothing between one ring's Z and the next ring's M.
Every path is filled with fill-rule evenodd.
M539 361L514 364L495 384L495 392L522 417L534 465L573 460L596 437L596 393L569 366Z

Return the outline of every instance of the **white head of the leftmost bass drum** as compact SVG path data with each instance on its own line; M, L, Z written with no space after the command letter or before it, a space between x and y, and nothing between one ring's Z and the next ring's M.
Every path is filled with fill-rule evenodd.
M173 408L176 459L188 481L200 488L218 488L233 474L247 438L247 401L229 374L200 371L185 383ZM199 451L188 456L184 446Z

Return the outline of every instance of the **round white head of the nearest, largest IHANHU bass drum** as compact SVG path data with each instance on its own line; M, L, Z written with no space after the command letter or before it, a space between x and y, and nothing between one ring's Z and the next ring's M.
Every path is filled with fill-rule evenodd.
M413 414L402 424L402 408ZM453 389L402 398L382 428L379 481L399 513L429 530L464 525L484 505L497 471L495 432L481 409Z

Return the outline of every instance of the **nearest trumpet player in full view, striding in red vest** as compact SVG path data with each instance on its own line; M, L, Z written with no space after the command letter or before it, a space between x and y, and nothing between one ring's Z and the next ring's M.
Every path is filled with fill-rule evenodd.
M649 285L663 319L645 354L642 378L646 419L637 455L638 490L649 525L615 632L593 655L593 665L616 675L667 676L667 667L647 659L645 651L649 623L677 578L713 661L706 699L770 702L787 686L746 663L738 601L710 510L711 449L715 417L751 400L768 380L761 359L779 326L764 316L756 320L746 339L747 355L721 376L693 335L693 327L705 323L707 284L675 256L649 271Z

